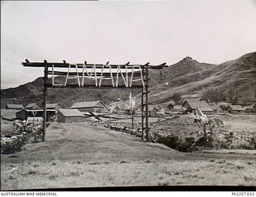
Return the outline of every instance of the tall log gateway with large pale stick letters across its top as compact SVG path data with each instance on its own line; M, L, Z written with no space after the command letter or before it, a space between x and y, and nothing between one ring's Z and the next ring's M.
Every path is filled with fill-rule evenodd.
M44 68L44 119L42 141L46 131L46 92L47 88L70 88L70 89L142 89L142 140L146 132L146 140L150 140L149 135L149 69L163 69L166 63L161 65L130 65L130 62L122 65L112 65L109 61L106 64L84 63L70 64L63 62L22 62L28 67ZM51 80L48 81L48 76ZM55 80L55 77L65 77L64 84ZM144 116L146 111L146 116ZM145 119L145 122L144 122ZM146 123L146 127L144 127ZM145 131L145 132L144 132Z

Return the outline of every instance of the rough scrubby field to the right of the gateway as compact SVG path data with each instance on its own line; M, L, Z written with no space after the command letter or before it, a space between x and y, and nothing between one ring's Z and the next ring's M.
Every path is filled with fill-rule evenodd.
M212 135L208 141L194 147L200 149L256 149L256 116L255 115L210 115L216 124L212 127ZM218 123L218 124L217 124ZM194 124L194 116L180 115L150 124L156 141L179 151L190 151L194 141L203 136L202 124ZM210 127L206 126L210 131Z

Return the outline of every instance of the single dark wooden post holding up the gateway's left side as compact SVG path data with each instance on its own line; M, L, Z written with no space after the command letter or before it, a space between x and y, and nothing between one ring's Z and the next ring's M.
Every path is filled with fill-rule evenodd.
M43 123L42 123L42 141L45 140L45 135L46 135L46 94L47 94L47 78L48 78L48 66L47 66L47 61L44 61L45 63L45 75L43 77Z

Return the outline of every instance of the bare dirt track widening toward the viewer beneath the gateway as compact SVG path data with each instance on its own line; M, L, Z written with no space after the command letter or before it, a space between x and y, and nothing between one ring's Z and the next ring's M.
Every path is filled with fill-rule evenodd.
M46 131L46 141L27 144L22 152L2 155L2 163L21 163L26 160L73 160L87 162L122 160L138 161L186 159L186 154L162 144L142 142L139 138L107 128L84 124L53 124Z

